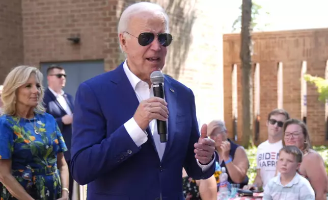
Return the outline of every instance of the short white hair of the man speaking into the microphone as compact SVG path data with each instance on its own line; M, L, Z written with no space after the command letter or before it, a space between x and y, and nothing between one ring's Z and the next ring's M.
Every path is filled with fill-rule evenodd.
M159 6L158 4L150 3L150 2L139 2L128 6L122 13L119 24L117 27L118 37L120 34L124 34L124 32L128 31L129 20L133 15L142 13L142 12L161 12L165 17L166 22L166 31L169 33L169 16L165 12L165 10ZM136 36L138 37L138 36ZM123 52L122 46L120 44L121 51Z

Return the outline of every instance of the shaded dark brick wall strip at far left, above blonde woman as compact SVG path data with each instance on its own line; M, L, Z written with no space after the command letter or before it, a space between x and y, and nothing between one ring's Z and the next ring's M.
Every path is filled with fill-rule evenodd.
M0 85L9 70L23 63L20 0L0 1Z

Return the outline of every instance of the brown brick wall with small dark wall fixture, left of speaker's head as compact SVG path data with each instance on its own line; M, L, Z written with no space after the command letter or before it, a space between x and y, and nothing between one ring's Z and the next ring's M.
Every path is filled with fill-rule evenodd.
M109 4L106 0L22 1L24 62L39 66L49 61L105 59L110 68L114 58L105 55L114 52L115 44L105 32L112 31L116 18ZM74 36L80 37L80 44L67 40Z

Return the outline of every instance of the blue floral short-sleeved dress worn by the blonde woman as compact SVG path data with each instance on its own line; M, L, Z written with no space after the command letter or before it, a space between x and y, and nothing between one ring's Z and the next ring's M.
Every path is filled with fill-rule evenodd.
M38 113L33 119L0 117L0 159L12 160L12 175L36 200L61 197L57 154L67 151L54 118ZM3 186L1 200L13 200Z

